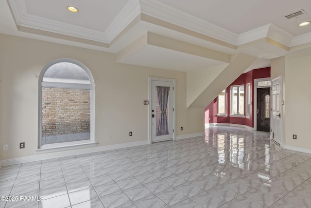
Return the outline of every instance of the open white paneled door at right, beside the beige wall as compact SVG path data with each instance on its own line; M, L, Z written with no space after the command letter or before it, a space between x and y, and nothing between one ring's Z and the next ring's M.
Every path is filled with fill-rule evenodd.
M282 78L277 77L271 83L271 109L272 125L271 138L278 144L282 144Z

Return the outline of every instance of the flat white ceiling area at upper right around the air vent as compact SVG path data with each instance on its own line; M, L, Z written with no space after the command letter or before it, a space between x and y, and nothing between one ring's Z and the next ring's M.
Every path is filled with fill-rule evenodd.
M310 0L158 0L236 34L273 23L293 36L311 32L299 27L311 20ZM308 16L288 20L284 16L304 9Z

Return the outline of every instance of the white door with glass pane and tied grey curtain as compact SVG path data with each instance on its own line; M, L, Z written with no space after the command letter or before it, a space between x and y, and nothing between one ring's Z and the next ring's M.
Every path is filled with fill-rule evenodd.
M157 86L169 87L168 101L166 105L166 111L161 111L160 101L157 92ZM150 124L151 124L151 142L159 142L173 139L174 137L174 95L173 95L173 81L151 80L151 108ZM163 107L162 107L163 110ZM160 119L161 116L166 117L167 130L161 132L159 128L162 128ZM164 117L162 117L164 118ZM166 127L165 127L166 128Z

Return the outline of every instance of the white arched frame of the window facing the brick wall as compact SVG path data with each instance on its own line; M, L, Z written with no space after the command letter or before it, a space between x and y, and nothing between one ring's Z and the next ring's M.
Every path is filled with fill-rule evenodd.
M61 83L61 82L43 82L43 76L45 72L54 64L60 62L69 62L76 64L82 67L89 79L90 84L75 84L75 83ZM73 141L73 142L62 142L55 144L45 144L42 145L42 88L43 87L52 87L52 88L70 88L70 89L82 89L82 90L90 90L90 139L82 140L82 141ZM94 109L95 109L95 92L94 92L94 79L89 71L89 69L81 62L71 59L71 58L59 58L48 63L40 73L39 76L39 100L38 100L38 149L35 150L35 153L45 153L45 152L53 152L60 150L72 150L78 148L85 147L95 147L97 146L97 142L94 139Z

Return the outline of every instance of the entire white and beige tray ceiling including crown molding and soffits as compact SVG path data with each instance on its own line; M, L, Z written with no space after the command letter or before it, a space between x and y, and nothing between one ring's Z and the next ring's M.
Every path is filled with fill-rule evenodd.
M67 11L69 5L79 12ZM300 9L307 15L284 17ZM118 62L177 71L225 63L196 55L201 47L214 54L258 57L248 70L267 67L270 58L308 47L311 25L298 26L305 20L311 21L310 0L0 1L0 33L115 54L129 51L131 45L137 50ZM177 43L173 49L152 45L148 36L136 46L148 32L187 43L192 52L179 50Z

